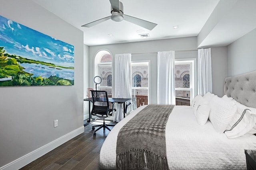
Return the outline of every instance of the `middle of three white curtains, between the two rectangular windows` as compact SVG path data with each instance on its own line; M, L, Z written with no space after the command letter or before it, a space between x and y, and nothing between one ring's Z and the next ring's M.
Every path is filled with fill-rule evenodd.
M157 53L157 104L175 105L174 51Z

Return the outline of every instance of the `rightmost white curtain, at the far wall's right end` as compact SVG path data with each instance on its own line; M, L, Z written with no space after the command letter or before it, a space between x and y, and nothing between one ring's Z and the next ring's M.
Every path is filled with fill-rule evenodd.
M198 94L212 93L211 49L198 49Z

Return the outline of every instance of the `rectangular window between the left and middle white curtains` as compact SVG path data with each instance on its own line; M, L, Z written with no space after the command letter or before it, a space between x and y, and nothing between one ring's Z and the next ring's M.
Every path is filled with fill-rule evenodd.
M132 62L132 102L133 109L149 104L149 62Z

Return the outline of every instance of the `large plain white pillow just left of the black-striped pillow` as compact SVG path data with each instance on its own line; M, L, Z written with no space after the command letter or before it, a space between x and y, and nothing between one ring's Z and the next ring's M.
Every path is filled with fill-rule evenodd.
M223 133L226 130L237 109L236 102L227 99L214 96L209 102L211 108L209 119L214 129L219 133Z

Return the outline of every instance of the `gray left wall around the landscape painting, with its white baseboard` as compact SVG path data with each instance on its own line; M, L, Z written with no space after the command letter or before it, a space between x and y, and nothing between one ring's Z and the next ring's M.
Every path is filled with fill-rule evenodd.
M0 169L18 169L84 131L83 32L32 0L0 0L0 15L74 45L74 86L0 87Z

